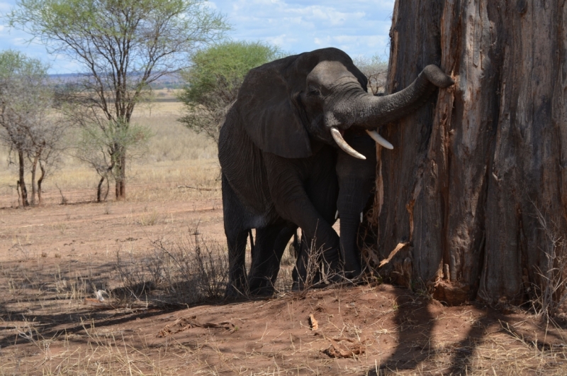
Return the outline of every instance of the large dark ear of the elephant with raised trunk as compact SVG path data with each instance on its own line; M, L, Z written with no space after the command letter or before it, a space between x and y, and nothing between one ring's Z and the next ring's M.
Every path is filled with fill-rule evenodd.
M251 70L240 87L237 103L245 131L258 148L280 157L305 158L311 155L311 143L300 109L293 102L298 88L286 74L295 58Z

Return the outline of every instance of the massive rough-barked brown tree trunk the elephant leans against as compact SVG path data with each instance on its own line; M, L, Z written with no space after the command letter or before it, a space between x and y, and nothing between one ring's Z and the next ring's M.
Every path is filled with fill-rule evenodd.
M381 133L380 259L409 242L412 280L449 304L522 302L567 234L564 1L396 0L387 92L428 64L456 84ZM566 77L563 77L566 74Z

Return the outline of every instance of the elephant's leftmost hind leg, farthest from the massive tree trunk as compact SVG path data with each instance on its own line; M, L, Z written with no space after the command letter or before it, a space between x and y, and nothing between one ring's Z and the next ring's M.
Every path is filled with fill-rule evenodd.
M247 210L223 175L223 220L228 243L228 286L226 297L245 295L246 290L246 243L249 226Z

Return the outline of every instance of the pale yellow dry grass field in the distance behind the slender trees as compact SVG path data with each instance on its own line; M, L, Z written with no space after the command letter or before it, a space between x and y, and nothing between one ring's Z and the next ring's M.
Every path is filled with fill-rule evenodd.
M165 99L172 99L172 93L162 92L167 94ZM127 185L129 200L163 201L178 198L178 193L181 192L177 188L179 185L215 189L220 187L216 145L206 136L196 134L176 121L181 106L179 102L163 101L145 104L135 111L133 121L149 127L154 136L150 139L147 152L130 162ZM62 201L59 188L67 203L96 199L99 176L70 154L72 150L64 157L60 170L45 180L45 204ZM1 148L0 161L7 160L7 150ZM18 206L15 167L9 166L7 162L0 164L0 196L9 197L0 201L0 207ZM29 182L30 177L26 178ZM113 199L112 193L110 192L108 199ZM196 196L196 192L189 192L188 189L184 193L186 194L182 194L181 199ZM203 194L198 195L201 196Z

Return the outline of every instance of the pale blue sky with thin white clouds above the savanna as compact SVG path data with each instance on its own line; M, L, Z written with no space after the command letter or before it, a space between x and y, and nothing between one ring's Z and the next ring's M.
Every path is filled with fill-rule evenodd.
M16 0L0 0L0 13ZM262 40L286 52L336 47L351 57L388 56L388 33L394 0L209 0L209 6L227 16L230 38ZM30 35L10 30L0 18L0 49L21 50L51 65L50 73L80 70L68 57L48 55Z

